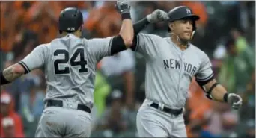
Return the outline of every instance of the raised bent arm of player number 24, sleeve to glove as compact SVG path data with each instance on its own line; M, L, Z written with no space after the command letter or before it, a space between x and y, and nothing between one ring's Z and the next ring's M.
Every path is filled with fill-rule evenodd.
M121 30L117 36L106 38L94 38L88 40L88 45L91 48L92 54L97 61L103 57L117 54L124 51L132 45L133 27L132 19L129 13L129 1L117 1L117 10L121 13L122 25Z

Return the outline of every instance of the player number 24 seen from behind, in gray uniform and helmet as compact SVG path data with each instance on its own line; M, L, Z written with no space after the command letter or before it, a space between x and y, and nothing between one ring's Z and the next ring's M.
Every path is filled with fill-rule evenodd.
M90 136L97 62L132 45L134 31L129 2L118 1L117 7L123 19L119 35L91 40L80 38L82 13L68 7L59 16L59 30L63 37L37 46L19 63L1 72L1 85L34 69L42 69L45 73L45 110L36 137Z

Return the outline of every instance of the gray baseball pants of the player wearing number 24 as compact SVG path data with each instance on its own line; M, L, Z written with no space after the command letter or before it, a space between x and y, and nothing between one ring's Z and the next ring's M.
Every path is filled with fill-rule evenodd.
M82 110L46 107L35 137L90 137L91 116Z

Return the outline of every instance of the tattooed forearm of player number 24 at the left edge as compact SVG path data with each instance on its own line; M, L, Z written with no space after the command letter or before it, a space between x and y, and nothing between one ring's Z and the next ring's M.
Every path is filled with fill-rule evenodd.
M25 73L25 70L21 65L18 63L7 67L7 69L4 69L3 72L1 72L1 83L0 84L8 84L11 81L15 80L16 78L19 78L21 75Z

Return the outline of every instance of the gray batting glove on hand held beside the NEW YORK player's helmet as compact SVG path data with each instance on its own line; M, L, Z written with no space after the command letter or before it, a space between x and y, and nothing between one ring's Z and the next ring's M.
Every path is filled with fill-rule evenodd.
M169 19L168 14L163 10L154 10L153 13L147 15L147 21L150 23L167 21Z

